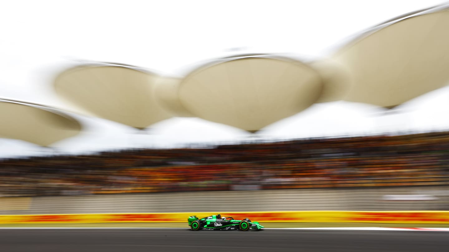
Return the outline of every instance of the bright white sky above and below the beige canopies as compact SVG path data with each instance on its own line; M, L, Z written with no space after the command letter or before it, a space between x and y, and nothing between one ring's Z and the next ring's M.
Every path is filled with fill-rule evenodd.
M179 74L207 59L242 52L328 55L337 44L392 17L441 0L2 1L0 97L59 105L52 78L78 61L109 61ZM235 48L245 49L236 52ZM261 132L264 139L449 129L449 88L385 114L372 105L315 104ZM172 147L249 135L198 118L173 118L146 132L79 117L86 131L56 143L58 152ZM5 118L1 119L5 120ZM0 157L40 155L42 148L0 139ZM54 150L47 150L53 153Z

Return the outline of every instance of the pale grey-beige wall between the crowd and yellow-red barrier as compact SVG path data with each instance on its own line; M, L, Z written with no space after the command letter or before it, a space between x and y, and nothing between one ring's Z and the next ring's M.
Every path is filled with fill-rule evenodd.
M0 198L0 214L449 210L449 187Z

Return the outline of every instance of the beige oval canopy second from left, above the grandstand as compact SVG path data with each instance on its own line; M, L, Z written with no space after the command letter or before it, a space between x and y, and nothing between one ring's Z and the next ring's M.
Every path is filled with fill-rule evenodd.
M143 129L171 117L154 97L158 78L128 65L82 65L59 74L54 88L98 117Z

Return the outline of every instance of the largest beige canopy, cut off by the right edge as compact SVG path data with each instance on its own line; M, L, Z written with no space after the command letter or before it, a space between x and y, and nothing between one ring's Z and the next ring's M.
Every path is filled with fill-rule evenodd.
M384 22L340 48L332 59L353 78L344 100L392 108L447 85L448 23L445 4Z

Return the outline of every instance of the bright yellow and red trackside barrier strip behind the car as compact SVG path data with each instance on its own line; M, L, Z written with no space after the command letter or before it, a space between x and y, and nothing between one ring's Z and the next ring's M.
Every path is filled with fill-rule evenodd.
M182 223L192 215L206 217L215 213L100 213L54 215L0 215L0 224L11 223ZM449 211L286 211L286 212L224 212L242 220L259 222L359 222L448 224Z

